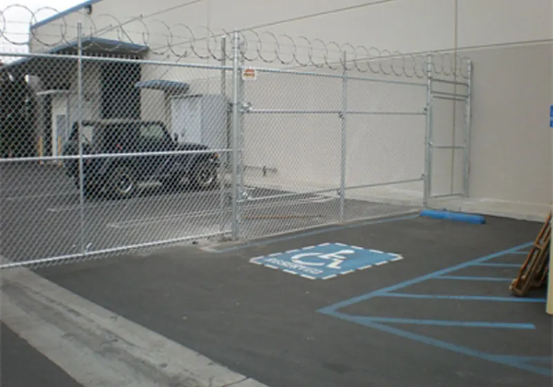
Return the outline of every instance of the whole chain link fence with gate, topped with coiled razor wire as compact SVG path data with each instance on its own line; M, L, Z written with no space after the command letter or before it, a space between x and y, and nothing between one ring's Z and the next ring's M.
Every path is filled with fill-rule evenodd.
M79 16L31 29L30 53L0 50L1 268L467 194L466 60Z

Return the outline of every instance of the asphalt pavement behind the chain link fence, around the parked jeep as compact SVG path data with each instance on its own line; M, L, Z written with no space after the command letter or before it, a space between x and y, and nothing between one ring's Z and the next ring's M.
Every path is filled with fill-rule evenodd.
M75 182L55 164L3 163L0 178L0 256L13 262L111 253L168 241L220 240L231 232L231 187L226 182L206 190L153 182L142 185L129 200L97 196L81 202ZM249 199L239 208L245 238L335 223L339 218L339 199L332 193L290 193L251 185L246 189ZM410 210L347 200L344 218Z

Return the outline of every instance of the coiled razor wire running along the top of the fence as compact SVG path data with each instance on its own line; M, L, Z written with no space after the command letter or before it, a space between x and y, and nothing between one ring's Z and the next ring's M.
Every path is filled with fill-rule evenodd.
M44 12L57 15L57 19L32 28ZM10 15L27 15L11 17ZM78 17L75 17L78 15ZM71 18L71 20L68 20ZM114 15L95 15L94 19L82 10L66 15L52 7L41 7L35 11L27 6L12 4L0 9L0 39L13 46L28 46L31 41L43 48L54 48L74 44L77 38L77 21L83 26L84 48L93 46L102 48L105 53L116 52L123 44L136 45L136 54L142 53L144 46L152 55L173 55L178 60L189 57L198 59L232 60L234 32L223 29L214 30L205 26L191 28L182 23L169 26L160 19L150 19L139 15L124 21ZM10 31L12 25L26 28L27 39L15 40L12 35L21 35L21 31ZM427 54L403 54L397 51L379 50L375 47L353 44L339 44L336 41L310 39L306 36L292 37L287 34L275 34L270 31L258 32L252 29L238 30L239 53L244 62L280 64L284 66L315 67L338 70L346 67L360 73L395 75L397 77L427 76ZM94 39L106 39L106 35L115 35L115 44L111 47L100 46ZM222 41L225 40L225 50ZM133 48L126 46L127 52ZM345 59L345 62L344 62ZM467 57L452 53L433 53L432 71L436 75L467 78Z

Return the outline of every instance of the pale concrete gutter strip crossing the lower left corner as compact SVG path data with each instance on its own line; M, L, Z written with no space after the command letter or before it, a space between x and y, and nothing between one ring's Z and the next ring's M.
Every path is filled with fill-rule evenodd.
M29 270L2 277L3 323L82 386L263 386Z

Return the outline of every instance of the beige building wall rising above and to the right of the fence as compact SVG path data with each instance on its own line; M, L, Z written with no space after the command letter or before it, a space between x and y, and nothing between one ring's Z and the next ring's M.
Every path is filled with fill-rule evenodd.
M129 10L133 9L135 12L129 15ZM182 23L191 26L198 36L201 36L198 31L202 30L197 26L208 26L214 32L220 32L221 28L228 31L233 28L258 28L259 31L270 30L276 35L305 35L324 41L337 41L339 44L347 41L353 46L363 44L367 48L374 46L390 52L425 53L456 49L474 63L471 202L465 203L464 207L526 218L543 218L544 212L549 209L552 201L552 141L547 127L547 112L552 100L550 85L553 83L550 59L553 39L551 0L392 0L373 1L372 4L361 0L339 3L330 0L298 0L294 1L294 6L286 7L269 0L203 0L189 3L163 0L156 3L142 2L140 9L131 5L130 1L103 0L93 6L91 15L97 30L113 24L113 18L100 16L102 14L112 15L120 21L129 20L133 14L144 15L142 21L147 23L150 32L147 41L142 39L144 27L140 21L126 24L126 31L133 37L134 43L148 44L153 48L150 59L160 60L176 60L178 56L167 50L167 32L162 23L156 23L156 19L172 27L173 42L176 37L180 36L186 41L190 36L186 28L178 26L178 23ZM83 21L85 30L90 27L91 23L82 15L65 17L69 31L67 35L71 35L71 26L76 25L79 19ZM59 25L37 28L37 34L59 35ZM134 35L132 31L135 31ZM121 34L114 29L102 37L119 39ZM263 41L270 41L270 37L263 35ZM268 46L270 43L265 44L265 47ZM196 48L201 54L206 53L199 45ZM179 59L179 62L206 61L191 55L190 59ZM210 62L215 61L211 59ZM202 90L215 91L218 88L218 74L208 73L173 68L163 72L162 77L184 82L215 77L213 82L193 82L195 85L203 85L200 88ZM272 82L277 84L280 81ZM207 84L209 88L205 86ZM279 87L288 90L294 86L297 83L279 84ZM257 87L265 86L261 86L260 81ZM403 90L387 90L391 93L387 98L391 100L406 98ZM321 95L317 90L312 90L310 96L303 94L303 91L299 91L296 97L317 100ZM257 103L263 99L270 102L268 97L259 95ZM274 102L273 106L276 104ZM152 111L159 110L156 108ZM332 164L337 162L336 154L328 149L329 141L338 140L335 135L332 137L319 133L317 137L314 133L308 138L298 137L297 133L294 135L288 133L288 129L283 129L290 129L287 122L292 125L287 120L290 118L272 124L269 134L269 129L261 131L263 126L256 126L259 133L252 133L246 142L250 149L250 161L261 162L261 155L254 153L253 147L256 144L259 147L255 138L267 141L266 147L276 147L276 143L268 139L270 136L282 135L288 136L281 137L283 149L320 149L327 155L326 160L332 160ZM311 117L295 122L295 126L313 131L313 127L320 126L319 121L319 118ZM401 126L390 120L386 124L388 131ZM279 128L282 130L279 131ZM321 133L326 130L321 129ZM284 138L289 138L290 143ZM393 141L393 136L390 140ZM265 148L265 153L268 149ZM371 153L374 152L373 149ZM265 157L272 157L270 160L274 164L280 163L281 168L286 164L290 168L292 160L286 162L286 154L279 154L277 149L268 153L272 155ZM369 157L366 154L362 156L362 151L356 154ZM319 182L321 185L326 184L328 173L321 169L320 162L317 164L312 160L308 156L298 158L297 161L303 162L301 165L305 166L306 174L298 176L299 171L294 168L293 175L289 177L294 180L309 177L313 185ZM439 160L435 164L444 167L444 170L449 168ZM353 176L362 173L349 172Z

